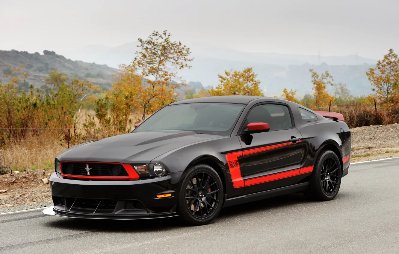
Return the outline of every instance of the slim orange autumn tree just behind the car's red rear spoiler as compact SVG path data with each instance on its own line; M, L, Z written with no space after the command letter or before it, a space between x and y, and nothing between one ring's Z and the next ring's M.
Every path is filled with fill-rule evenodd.
M312 73L312 90L314 97L313 108L320 109L321 107L326 107L330 103L330 100L334 98L327 92L327 85L334 86L334 79L331 74L326 70L326 72L321 75L315 72L313 69L309 70Z

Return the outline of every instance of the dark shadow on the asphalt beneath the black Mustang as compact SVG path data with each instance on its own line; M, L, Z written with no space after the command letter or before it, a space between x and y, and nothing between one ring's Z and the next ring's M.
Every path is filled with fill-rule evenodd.
M338 196L337 196L338 197ZM242 215L251 215L252 213L265 212L268 210L288 207L300 203L308 203L303 194L294 193L262 199L241 205L225 207L219 213L219 216L212 223L223 223L225 219L234 219ZM81 231L106 231L106 232L152 232L152 231L169 231L186 227L180 222L178 217L162 218L162 219L140 219L140 220L107 220L107 219L75 219L52 217L51 221L45 223L47 227L58 229L74 229Z

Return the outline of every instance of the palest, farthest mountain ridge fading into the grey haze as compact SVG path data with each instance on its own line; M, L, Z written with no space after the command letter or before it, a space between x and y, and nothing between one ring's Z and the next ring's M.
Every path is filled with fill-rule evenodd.
M137 42L125 43L117 47L107 47L103 45L88 45L80 49L73 49L63 52L74 60L86 62L96 62L108 64L111 67L118 68L119 64L128 64L134 59L135 52L138 50ZM201 59L219 59L227 61L243 61L249 63L275 64L289 66L292 64L302 65L321 64L329 65L359 65L363 63L375 64L375 59L369 59L357 55L348 56L319 56L318 55L295 55L295 54L277 54L262 52L243 52L226 47L190 46L192 56Z

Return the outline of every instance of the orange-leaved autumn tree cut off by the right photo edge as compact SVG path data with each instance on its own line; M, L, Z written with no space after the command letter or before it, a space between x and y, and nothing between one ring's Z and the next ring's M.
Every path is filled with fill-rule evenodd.
M377 62L375 68L370 68L366 72L374 95L371 97L384 104L399 103L399 59L398 55L389 49L384 59Z

